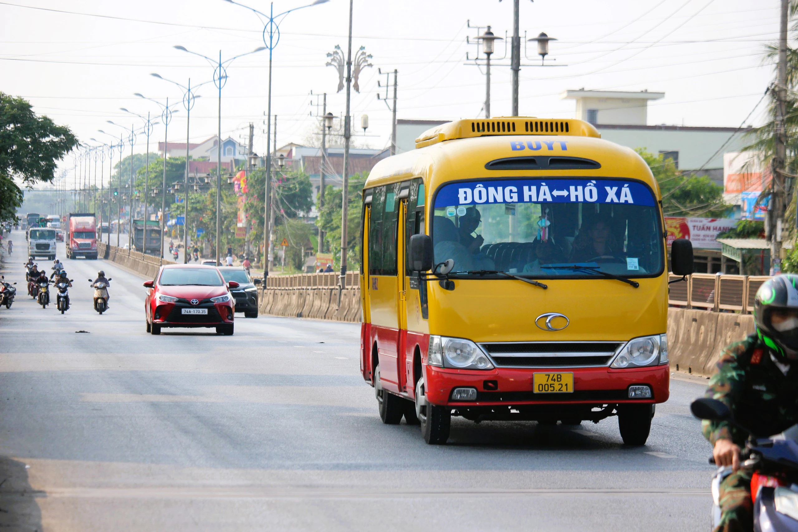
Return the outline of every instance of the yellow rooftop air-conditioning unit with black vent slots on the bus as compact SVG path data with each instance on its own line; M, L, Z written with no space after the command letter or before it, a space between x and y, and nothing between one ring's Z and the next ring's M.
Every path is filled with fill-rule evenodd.
M485 120L456 120L425 131L416 139L416 148L444 140L496 135L564 135L601 138L599 131L583 120L539 119L534 116L500 116Z

